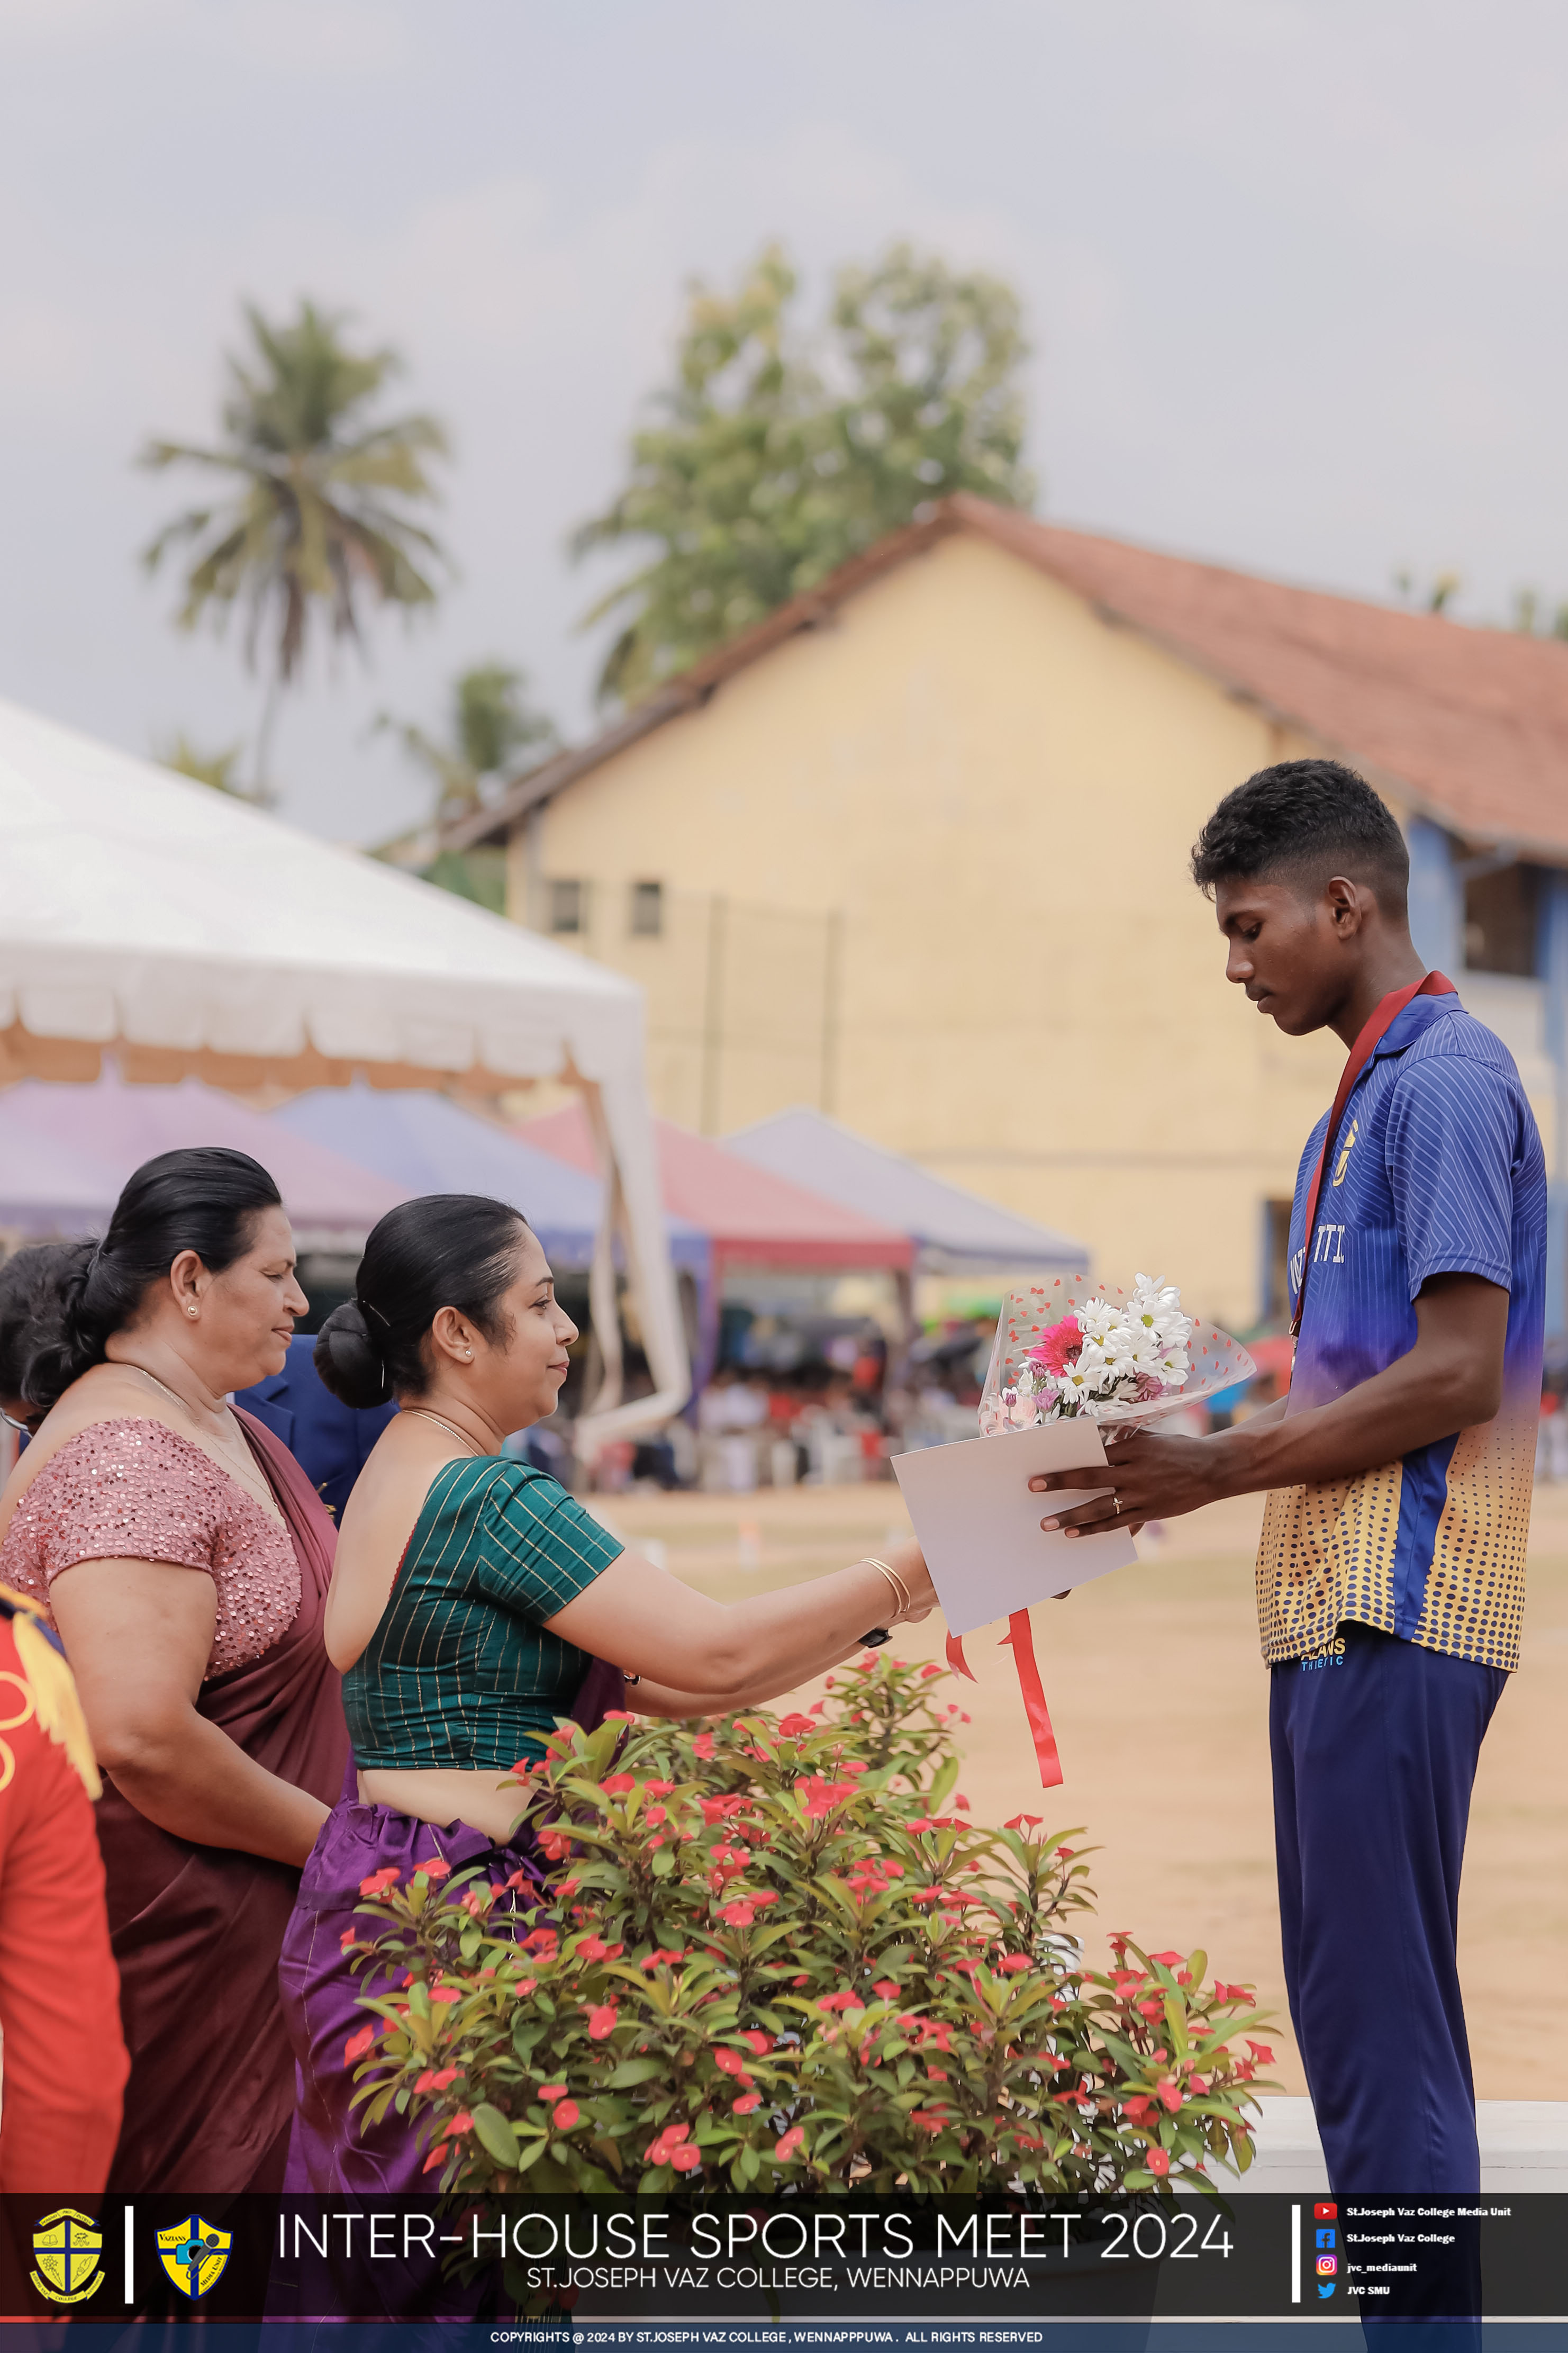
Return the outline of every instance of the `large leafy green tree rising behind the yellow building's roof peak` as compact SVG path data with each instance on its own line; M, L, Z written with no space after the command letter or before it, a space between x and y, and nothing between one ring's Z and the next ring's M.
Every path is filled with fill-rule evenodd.
M599 694L637 701L954 489L1030 506L1018 296L896 245L844 268L816 336L778 247L693 287L675 384L574 551L651 541L585 626L623 614Z

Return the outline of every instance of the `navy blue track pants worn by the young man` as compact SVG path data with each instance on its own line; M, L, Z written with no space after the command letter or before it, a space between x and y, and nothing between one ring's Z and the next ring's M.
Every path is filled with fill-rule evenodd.
M1481 2188L1455 1939L1507 1675L1371 1626L1269 1678L1291 2021L1338 2195Z

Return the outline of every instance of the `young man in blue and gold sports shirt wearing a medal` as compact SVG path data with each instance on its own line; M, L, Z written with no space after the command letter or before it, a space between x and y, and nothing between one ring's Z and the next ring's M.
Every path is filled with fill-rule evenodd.
M1361 776L1262 769L1192 873L1227 979L1284 1035L1349 1047L1295 1181L1291 1391L1211 1438L1128 1438L1114 1494L1044 1525L1269 1492L1279 1915L1328 2174L1340 2193L1476 2191L1455 1934L1476 1758L1519 1666L1544 1158L1507 1047L1410 944L1406 847Z

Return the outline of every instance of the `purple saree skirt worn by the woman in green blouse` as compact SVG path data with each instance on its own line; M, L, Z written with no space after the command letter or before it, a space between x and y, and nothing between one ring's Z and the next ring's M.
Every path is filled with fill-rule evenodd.
M571 1704L571 1720L592 1732L609 1708L623 1704L621 1668L595 1659ZM282 2014L294 2045L296 2111L284 2191L400 2195L428 2191L421 2177L428 2148L395 2108L378 2125L364 2125L364 2104L350 2108L355 2064L343 2059L343 2045L369 2021L360 1995L383 1991L369 1986L364 1969L355 1972L343 1953L343 1932L364 1929L357 1915L360 1880L371 1871L395 1868L409 1878L421 1864L440 1857L456 1878L480 1871L491 1887L522 1871L545 1887L548 1871L529 1831L496 1845L465 1821L444 1826L397 1814L390 1805L364 1805L360 1777L350 1758L343 1798L322 1824L303 1878L294 1915L282 1939L277 1979ZM529 1901L527 1894L520 1901Z

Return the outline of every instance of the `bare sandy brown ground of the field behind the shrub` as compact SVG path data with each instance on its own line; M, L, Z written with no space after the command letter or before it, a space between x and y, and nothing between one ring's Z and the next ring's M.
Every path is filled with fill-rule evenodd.
M844 1567L907 1534L893 1485L755 1497L604 1497L632 1544L722 1600ZM1034 1609L1034 1649L1067 1774L1041 1802L1011 1652L964 1649L978 1687L952 1685L961 1791L976 1821L1020 1807L1081 1824L1100 1852L1103 1927L1147 1948L1204 1946L1276 2012L1286 2092L1305 2092L1286 2017L1269 1819L1267 1675L1258 1661L1253 1546L1260 1501L1171 1522L1135 1569ZM943 1654L940 1619L903 1628L903 1657ZM799 1699L816 1697L816 1685ZM1479 2099L1568 2099L1568 1487L1535 1497L1523 1673L1481 1755L1469 1826L1460 1962ZM1091 1944L1091 1951L1095 1946ZM1098 1946L1103 1953L1103 1944Z

